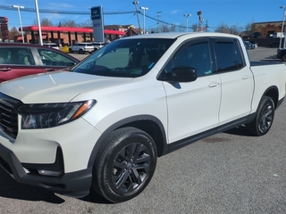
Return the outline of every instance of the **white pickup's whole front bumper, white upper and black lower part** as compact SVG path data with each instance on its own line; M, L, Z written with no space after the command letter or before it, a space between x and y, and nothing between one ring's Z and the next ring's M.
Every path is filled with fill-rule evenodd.
M88 195L100 133L85 119L56 128L20 129L14 141L0 129L0 165L18 182L72 197ZM41 170L60 172L49 176Z

